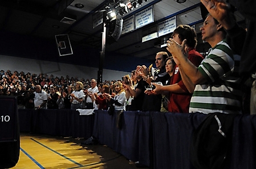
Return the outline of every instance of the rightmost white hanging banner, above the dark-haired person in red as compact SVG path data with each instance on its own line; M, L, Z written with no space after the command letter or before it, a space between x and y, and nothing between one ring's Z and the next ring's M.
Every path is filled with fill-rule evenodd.
M159 37L172 33L176 28L176 16L159 23Z

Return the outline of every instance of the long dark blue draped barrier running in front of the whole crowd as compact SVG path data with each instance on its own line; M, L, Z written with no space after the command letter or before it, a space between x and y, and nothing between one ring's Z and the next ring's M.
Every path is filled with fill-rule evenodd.
M121 129L117 115L95 111L79 116L72 110L19 110L21 132L89 138L94 136L126 158L157 169L195 169L190 163L193 131L202 113L124 112ZM226 168L256 168L256 116L235 117L231 157Z

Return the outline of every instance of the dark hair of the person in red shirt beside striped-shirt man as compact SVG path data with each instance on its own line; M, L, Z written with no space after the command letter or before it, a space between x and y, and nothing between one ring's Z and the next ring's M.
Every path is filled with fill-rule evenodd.
M196 48L197 34L196 31L194 31L194 28L188 25L179 25L176 29L174 29L172 34L178 34L181 41L186 39L186 45L188 45L188 47Z

